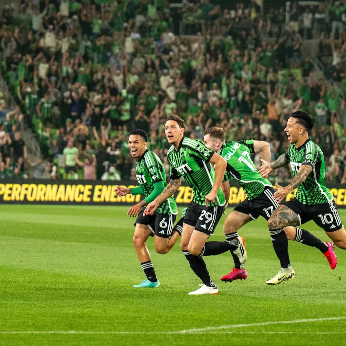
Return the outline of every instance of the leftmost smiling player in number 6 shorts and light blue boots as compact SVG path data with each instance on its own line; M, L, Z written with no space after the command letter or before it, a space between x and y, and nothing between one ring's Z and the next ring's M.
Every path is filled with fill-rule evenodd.
M156 252L166 254L176 243L181 235L181 231L178 227L179 225L173 231L177 213L173 197L162 201L153 215L143 215L145 206L153 201L167 186L163 164L154 152L147 149L147 139L148 136L145 131L140 129L131 131L128 147L131 156L137 159L136 176L139 186L132 189L117 186L116 192L119 196L125 196L128 193L145 195L145 199L132 206L127 212L127 215L131 217L136 217L138 214L135 222L133 243L142 269L147 277L147 280L144 280L139 285L134 285L134 287L156 288L160 287L160 282L157 280L146 246L146 240L154 233Z

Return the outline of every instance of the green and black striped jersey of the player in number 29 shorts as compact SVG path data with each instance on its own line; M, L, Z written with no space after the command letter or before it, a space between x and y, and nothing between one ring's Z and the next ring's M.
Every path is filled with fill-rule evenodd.
M215 171L209 163L213 154L203 142L188 137L183 137L177 150L172 145L167 152L171 179L184 176L185 182L192 189L192 200L200 205L206 204L205 197L210 193L215 180ZM223 206L225 203L225 195L219 188L215 202L208 203L208 206Z

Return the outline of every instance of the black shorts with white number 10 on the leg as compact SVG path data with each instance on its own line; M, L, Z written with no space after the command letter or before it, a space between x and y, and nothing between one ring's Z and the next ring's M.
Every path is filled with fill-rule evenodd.
M313 220L315 224L323 228L326 232L337 231L344 227L334 200L312 206L303 204L296 198L292 198L288 202L282 202L282 204L298 215L299 225Z

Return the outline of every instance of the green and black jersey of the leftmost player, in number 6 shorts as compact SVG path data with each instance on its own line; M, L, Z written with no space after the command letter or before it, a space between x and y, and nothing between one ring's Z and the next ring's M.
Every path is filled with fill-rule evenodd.
M154 183L163 181L167 186L166 173L160 158L152 151L146 150L136 163L136 177L145 198L154 191ZM171 196L159 204L156 211L162 214L176 214L176 203Z

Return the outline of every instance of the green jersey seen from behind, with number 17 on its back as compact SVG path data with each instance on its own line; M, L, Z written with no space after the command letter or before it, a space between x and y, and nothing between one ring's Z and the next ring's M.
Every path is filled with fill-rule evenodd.
M263 179L252 162L250 154L254 153L254 140L239 140L223 144L219 154L227 161L224 181L235 180L246 192L247 199L258 197L271 182Z

